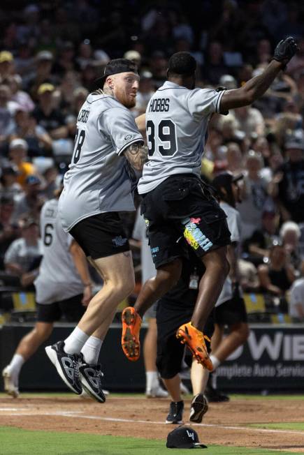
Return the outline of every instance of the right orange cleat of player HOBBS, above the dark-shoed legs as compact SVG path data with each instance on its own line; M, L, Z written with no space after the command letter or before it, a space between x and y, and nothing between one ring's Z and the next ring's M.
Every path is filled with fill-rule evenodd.
M180 326L176 332L176 338L180 339L180 343L187 345L187 348L191 350L199 364L202 364L209 371L212 371L212 361L210 360L207 346L205 345L205 340L210 342L208 336L193 327L191 322L187 322L187 324Z

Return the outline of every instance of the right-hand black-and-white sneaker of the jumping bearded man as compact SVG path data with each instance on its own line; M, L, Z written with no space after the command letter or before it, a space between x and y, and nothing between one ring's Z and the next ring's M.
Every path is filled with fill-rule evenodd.
M101 378L103 377L101 366L86 364L82 358L79 364L79 373L82 389L99 403L104 403L106 395L101 386Z

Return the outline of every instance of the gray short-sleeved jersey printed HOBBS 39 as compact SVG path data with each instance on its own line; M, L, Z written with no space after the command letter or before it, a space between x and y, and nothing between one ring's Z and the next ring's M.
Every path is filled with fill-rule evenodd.
M201 174L205 133L213 112L219 112L224 91L189 90L165 82L146 110L149 161L143 167L138 193L152 191L173 174Z

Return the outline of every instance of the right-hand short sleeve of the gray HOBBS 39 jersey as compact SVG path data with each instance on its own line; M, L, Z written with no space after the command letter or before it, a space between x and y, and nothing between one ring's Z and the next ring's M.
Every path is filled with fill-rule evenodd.
M214 89L194 89L191 90L187 103L191 115L210 115L214 112L219 113L222 96L225 91Z

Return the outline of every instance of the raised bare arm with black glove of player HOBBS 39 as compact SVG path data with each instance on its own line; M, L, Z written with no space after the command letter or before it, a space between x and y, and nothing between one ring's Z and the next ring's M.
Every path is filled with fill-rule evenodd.
M270 64L261 75L253 77L240 89L225 91L220 105L221 112L247 106L260 98L270 87L280 70L284 69L289 60L294 57L297 49L296 42L291 36L281 40L275 47L273 60L270 61Z

